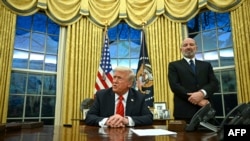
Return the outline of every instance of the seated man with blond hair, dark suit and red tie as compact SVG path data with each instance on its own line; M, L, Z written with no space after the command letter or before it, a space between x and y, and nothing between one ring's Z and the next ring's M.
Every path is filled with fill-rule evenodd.
M96 93L85 124L101 127L152 125L153 114L145 103L145 95L132 88L134 79L130 68L115 68L112 88Z

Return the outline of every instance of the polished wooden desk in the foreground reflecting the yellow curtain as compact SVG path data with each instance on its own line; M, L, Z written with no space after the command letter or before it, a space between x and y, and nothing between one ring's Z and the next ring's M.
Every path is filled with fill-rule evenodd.
M166 125L141 126L135 129L166 129ZM46 126L0 134L0 141L219 141L211 131L177 132L176 136L137 136L131 128L100 128L86 125Z

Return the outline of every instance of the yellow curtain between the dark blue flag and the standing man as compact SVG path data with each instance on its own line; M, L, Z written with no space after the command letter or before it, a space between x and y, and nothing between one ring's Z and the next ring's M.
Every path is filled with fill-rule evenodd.
M154 76L155 102L166 102L173 114L173 94L168 84L168 63L181 58L182 26L160 16L146 28L146 41Z

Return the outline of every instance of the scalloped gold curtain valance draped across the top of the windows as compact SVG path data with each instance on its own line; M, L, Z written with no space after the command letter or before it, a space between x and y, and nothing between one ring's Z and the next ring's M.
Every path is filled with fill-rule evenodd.
M98 26L115 26L124 20L134 28L153 23L159 15L175 22L187 22L202 8L227 12L244 0L1 0L19 15L43 10L56 23L70 25L86 16Z

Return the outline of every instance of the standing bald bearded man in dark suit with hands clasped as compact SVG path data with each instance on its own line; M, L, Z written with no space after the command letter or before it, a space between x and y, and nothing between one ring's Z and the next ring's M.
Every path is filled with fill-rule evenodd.
M168 79L174 93L174 118L189 123L201 107L211 102L219 82L209 62L195 59L194 39L184 39L180 50L183 58L169 63Z

